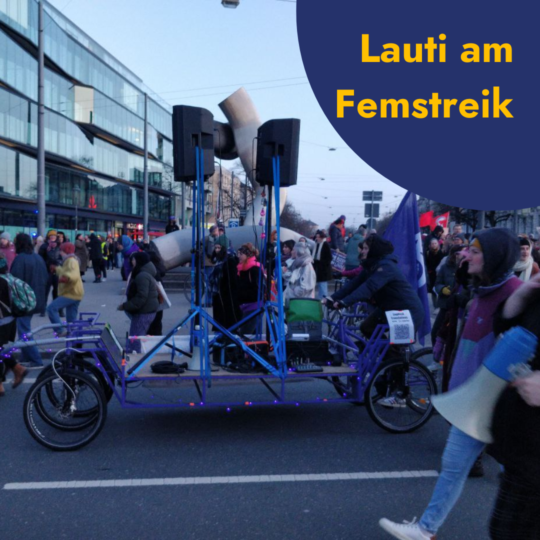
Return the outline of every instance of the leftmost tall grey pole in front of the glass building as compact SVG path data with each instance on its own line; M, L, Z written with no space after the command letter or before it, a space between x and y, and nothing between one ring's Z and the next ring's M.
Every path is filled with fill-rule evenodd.
M45 238L45 63L43 50L43 1L39 0L37 49L37 233Z

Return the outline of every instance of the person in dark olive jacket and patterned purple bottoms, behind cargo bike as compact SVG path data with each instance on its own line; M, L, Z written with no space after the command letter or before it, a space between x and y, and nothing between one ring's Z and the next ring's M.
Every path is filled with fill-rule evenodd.
M118 309L125 311L131 320L130 336L147 335L159 309L156 267L145 251L131 253L128 260L132 271L126 291L127 299ZM136 352L140 352L140 343L134 343L134 347Z

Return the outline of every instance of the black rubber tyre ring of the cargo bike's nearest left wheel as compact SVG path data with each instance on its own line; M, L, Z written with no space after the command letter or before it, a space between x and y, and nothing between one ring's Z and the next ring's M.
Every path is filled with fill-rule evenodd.
M32 384L24 399L24 423L30 435L42 446L57 451L77 450L78 448L82 448L86 444L89 444L93 439L97 437L99 432L103 429L107 417L107 403L105 401L105 395L103 393L101 385L98 384L95 379L92 379L92 377L90 377L86 373L80 372L79 370L66 369L62 375L63 380L60 380L59 377L54 372L52 372L49 375L43 377L41 380L37 380L35 383ZM63 384L64 387L66 385L65 381L69 380L71 390L73 390L74 392L77 390L74 400L71 397L67 398L71 400L71 404L73 407L76 407L77 401L80 400L80 394L78 393L78 389L80 388L86 390L84 395L91 396L92 400L95 400L97 411L96 414L92 417L92 421L90 422L90 424L88 426L85 426L88 429L85 431L84 434L78 435L82 428L79 430L65 430L63 428L58 429L55 426L51 426L50 423L47 421L45 421L46 426L42 426L40 424L39 419L43 420L43 417L36 407L37 396L44 392L46 384L53 380L57 381L59 384ZM69 393L66 390L66 396L68 395ZM64 420L67 419L70 412L72 412L72 410L64 411ZM63 427L65 427L65 424ZM72 441L59 440L58 437L64 435L66 437L71 436L71 438L77 438Z

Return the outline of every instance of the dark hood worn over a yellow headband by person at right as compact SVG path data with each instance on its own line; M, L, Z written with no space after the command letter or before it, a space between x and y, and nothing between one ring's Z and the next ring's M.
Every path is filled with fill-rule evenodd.
M502 278L519 259L519 242L508 229L493 227L476 235L484 254L484 273L493 282Z

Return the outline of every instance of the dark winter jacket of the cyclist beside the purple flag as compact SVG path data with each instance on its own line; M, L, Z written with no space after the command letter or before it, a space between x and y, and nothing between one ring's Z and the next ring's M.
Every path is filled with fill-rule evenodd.
M346 306L373 300L382 311L408 309L415 330L424 320L422 302L397 266L395 255L384 255L369 264L356 278L333 293L332 299L341 300Z

